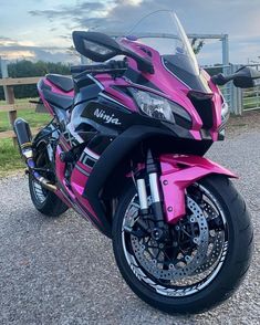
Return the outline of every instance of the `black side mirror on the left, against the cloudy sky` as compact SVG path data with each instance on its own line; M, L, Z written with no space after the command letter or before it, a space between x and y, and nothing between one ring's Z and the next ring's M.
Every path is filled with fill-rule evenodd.
M74 31L72 38L76 51L94 62L104 62L122 54L119 44L106 34Z

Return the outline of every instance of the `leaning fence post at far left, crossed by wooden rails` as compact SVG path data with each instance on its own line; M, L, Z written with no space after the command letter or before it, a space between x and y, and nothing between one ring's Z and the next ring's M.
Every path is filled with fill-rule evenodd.
M2 73L2 78L9 77L8 75L8 64L7 60L1 60L0 57L0 63L1 63L1 73ZM14 92L13 92L13 86L3 86L3 92L4 92L4 98L7 104L13 105L15 97L14 97ZM8 117L9 117L9 123L13 127L14 120L17 118L17 111L11 109L8 112ZM17 146L17 138L12 138L13 145Z

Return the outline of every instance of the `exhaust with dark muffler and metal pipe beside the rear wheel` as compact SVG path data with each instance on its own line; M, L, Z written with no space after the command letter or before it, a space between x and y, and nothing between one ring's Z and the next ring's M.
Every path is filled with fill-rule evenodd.
M53 192L56 191L58 188L55 185L50 184L46 178L34 170L35 162L33 160L32 133L29 124L23 118L17 118L13 124L13 130L17 135L20 153L25 160L29 172L32 174L42 187Z

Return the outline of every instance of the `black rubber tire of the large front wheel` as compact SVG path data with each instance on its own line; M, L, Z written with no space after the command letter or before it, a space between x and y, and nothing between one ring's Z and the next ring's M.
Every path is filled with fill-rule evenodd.
M227 177L212 175L199 184L207 188L220 205L227 220L229 241L226 258L216 277L194 294L178 297L158 294L132 271L124 253L122 226L126 209L136 195L134 186L123 195L113 222L114 254L126 283L143 301L169 314L200 313L223 302L239 286L251 260L253 231L250 216L232 182Z

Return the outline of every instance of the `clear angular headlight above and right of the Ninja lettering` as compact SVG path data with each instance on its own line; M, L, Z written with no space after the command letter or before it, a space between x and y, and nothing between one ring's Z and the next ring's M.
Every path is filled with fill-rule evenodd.
M164 119L171 123L191 126L191 117L186 109L177 103L170 102L165 97L137 88L129 88L139 108L149 117Z

